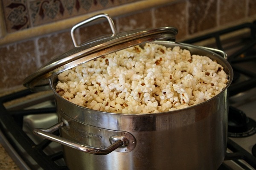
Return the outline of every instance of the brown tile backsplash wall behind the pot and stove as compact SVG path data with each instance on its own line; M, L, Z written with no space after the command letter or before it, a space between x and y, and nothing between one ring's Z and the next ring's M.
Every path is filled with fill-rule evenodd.
M177 41L256 20L255 0L1 0L0 2L0 8L3 9L0 20L2 91L21 86L25 77L49 59L74 48L70 37L73 23L81 18L86 19L92 14L109 13L117 31L175 26L179 30ZM79 28L76 31L76 40L81 43L109 32L111 29L108 23L99 20Z

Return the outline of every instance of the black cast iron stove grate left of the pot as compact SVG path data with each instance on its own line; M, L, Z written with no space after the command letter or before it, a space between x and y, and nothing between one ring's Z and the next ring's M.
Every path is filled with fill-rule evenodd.
M8 142L30 168L33 168L34 165L27 157L26 153L28 153L29 156L31 156L31 158L45 170L67 170L68 168L66 166L58 166L55 164L55 161L63 158L62 152L52 155L46 155L44 153L43 150L51 143L50 141L44 140L40 144L35 144L22 130L23 116L29 114L52 113L56 112L56 108L7 111L3 105L5 102L9 102L29 94L32 94L32 92L26 89L0 98L0 129ZM23 149L26 150L26 153L23 152Z

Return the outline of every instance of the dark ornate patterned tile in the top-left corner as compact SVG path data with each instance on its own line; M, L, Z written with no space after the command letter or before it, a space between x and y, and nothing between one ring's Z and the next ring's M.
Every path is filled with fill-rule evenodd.
M8 33L31 27L26 0L2 0L2 3Z

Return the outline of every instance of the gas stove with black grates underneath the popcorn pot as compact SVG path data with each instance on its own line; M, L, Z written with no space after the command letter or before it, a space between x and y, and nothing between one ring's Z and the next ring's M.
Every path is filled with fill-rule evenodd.
M234 70L229 88L227 154L218 170L255 170L256 23L244 23L184 42L225 51ZM48 128L57 122L51 91L33 93L23 89L0 97L0 143L20 169L68 169L61 145L32 133L36 127Z

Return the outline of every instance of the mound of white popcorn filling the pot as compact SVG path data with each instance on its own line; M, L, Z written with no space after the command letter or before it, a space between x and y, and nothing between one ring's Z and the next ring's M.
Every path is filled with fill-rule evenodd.
M147 43L58 75L55 89L76 105L111 113L159 113L197 105L227 85L223 67L178 46Z

